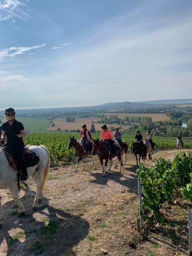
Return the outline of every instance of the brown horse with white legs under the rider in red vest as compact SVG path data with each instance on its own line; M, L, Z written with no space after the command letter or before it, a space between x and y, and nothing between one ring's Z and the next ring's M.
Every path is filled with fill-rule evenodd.
M92 143L90 143L90 145L92 146ZM75 168L74 172L77 172L77 166L78 166L80 161L82 161L82 165L83 165L82 170L84 170L83 156L86 156L86 155L90 155L93 158L93 169L96 169L97 156L93 156L92 153L87 153L84 150L83 144L81 143L81 141L76 140L74 136L73 136L73 138L70 137L70 140L69 140L69 143L68 143L68 149L71 149L72 147L74 147L76 149L76 154L79 157L79 159L77 160L77 164L76 164L76 168Z

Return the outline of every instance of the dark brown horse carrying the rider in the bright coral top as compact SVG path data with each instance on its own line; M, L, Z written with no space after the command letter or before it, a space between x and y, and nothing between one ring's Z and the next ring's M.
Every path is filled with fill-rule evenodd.
M110 173L111 166L112 166L112 158L115 157L115 155L111 153L111 150L109 149L109 145L106 141L100 141L99 139L93 140L93 155L98 154L102 169L104 171L104 174L102 177L105 177L105 175ZM121 166L122 165L122 159L121 159L121 148L119 150L116 150L117 157L119 159L119 172L121 172ZM105 166L103 166L103 160L105 160ZM108 169L108 172L106 171L108 160L110 160L110 166ZM116 168L116 166L114 166Z

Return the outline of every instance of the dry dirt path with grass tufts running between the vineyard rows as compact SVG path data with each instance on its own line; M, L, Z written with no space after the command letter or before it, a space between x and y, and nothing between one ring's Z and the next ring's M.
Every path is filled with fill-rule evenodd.
M172 160L175 153L176 150L154 152L153 160L147 160L145 166L153 166L159 157ZM99 160L96 170L90 161L85 163L85 171L81 170L81 163L76 174L74 169L73 164L50 170L38 212L32 211L35 183L29 178L19 194L26 209L24 218L17 218L12 195L1 190L4 221L0 256L186 255L186 247L182 254L177 246L168 246L160 237L159 242L155 241L156 247L154 240L145 242L146 247L141 243L136 231L138 189L133 155L127 155L121 173L112 168L105 178ZM160 254L153 252L157 244ZM178 251L180 254L176 254Z

